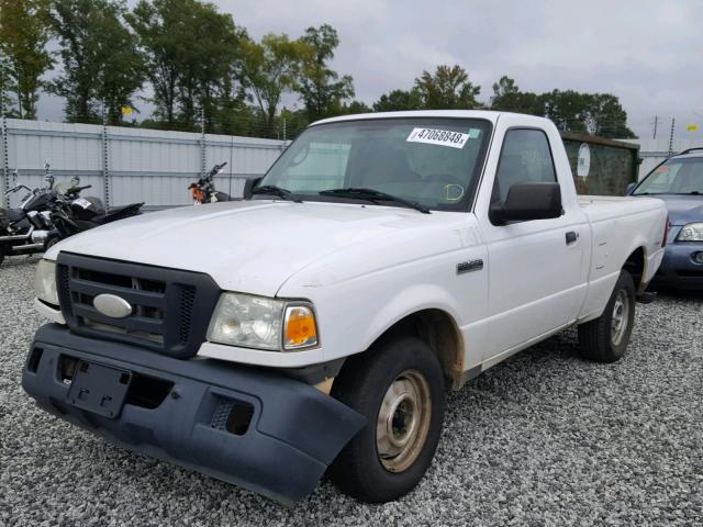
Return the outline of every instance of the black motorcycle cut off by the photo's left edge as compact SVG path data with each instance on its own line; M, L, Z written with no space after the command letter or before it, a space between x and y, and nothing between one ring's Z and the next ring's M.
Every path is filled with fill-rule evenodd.
M14 178L18 171L14 171ZM54 182L47 172L47 186L43 189L30 189L16 184L5 195L25 190L27 193L14 209L0 209L0 264L5 256L32 255L42 253L49 232L54 228L52 210L54 208Z

